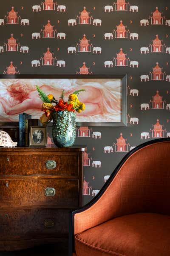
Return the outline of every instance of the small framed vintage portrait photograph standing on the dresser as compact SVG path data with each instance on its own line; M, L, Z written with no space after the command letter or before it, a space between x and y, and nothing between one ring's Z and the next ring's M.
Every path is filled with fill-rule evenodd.
M30 126L29 147L47 147L47 127Z

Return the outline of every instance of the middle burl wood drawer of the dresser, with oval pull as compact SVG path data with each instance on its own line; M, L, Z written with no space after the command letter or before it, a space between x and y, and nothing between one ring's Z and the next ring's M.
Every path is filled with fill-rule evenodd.
M0 180L0 206L79 205L78 179Z

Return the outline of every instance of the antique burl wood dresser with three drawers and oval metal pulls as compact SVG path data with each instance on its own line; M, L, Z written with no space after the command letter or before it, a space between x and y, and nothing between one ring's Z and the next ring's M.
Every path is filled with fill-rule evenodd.
M68 238L82 205L84 148L0 148L0 250Z

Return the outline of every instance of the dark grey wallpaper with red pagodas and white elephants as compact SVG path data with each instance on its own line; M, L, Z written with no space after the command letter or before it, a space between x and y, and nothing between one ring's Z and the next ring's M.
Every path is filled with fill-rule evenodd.
M84 203L127 151L170 137L169 0L8 0L0 35L0 74L127 74L127 127L77 127Z

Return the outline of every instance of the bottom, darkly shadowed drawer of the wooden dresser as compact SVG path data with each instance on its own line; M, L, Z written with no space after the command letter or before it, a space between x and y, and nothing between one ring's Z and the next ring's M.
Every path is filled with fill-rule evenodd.
M0 211L1 240L67 238L68 209Z

